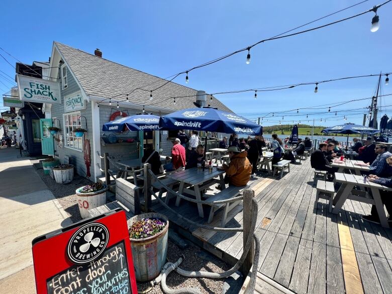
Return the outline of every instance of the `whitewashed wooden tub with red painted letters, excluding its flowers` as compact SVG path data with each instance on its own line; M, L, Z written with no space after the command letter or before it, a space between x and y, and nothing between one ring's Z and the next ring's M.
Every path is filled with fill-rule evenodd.
M93 208L100 207L106 204L106 191L108 190L107 185L103 185L101 190L90 193L80 193L83 187L76 189L76 201L79 207L80 216L82 219L88 217L88 211Z

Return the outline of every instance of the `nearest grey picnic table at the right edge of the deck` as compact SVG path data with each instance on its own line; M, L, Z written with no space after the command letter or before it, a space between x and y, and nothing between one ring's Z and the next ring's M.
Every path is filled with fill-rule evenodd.
M370 181L366 181L364 183L363 177L360 175L339 172L335 173L335 181L342 183L342 185L334 197L333 205L335 207L332 210L332 213L338 214L339 210L342 208L347 199L372 204L375 205L377 209L381 226L384 228L389 228L379 190L387 190L392 192L392 188L388 188ZM355 186L367 188L368 191L371 191L371 194L369 194L369 192L355 190Z

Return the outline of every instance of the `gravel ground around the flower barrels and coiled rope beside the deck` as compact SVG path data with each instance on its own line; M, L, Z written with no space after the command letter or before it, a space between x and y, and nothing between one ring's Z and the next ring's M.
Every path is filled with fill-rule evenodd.
M33 161L38 162L38 161ZM36 169L42 180L52 191L53 195L57 198L62 208L70 216L71 220L75 223L81 220L79 208L76 204L75 190L83 185L88 184L87 180L82 180L82 177L76 176L69 184L58 184L49 175L44 174L43 169ZM79 183L80 182L80 183ZM189 243L187 241L187 243ZM170 262L175 262L184 254L185 260L179 265L180 268L185 270L204 270L213 272L223 272L230 269L230 266L222 260L216 258L212 254L200 249L200 247L191 245L185 250L181 250L169 239L167 259ZM202 258L203 257L203 258ZM208 279L208 278L187 278L179 275L177 272L172 271L167 277L167 285L170 288L180 289L183 287L198 287L202 293L222 293L224 279ZM148 290L150 283L138 283L138 291ZM163 293L160 284L155 285L149 294Z

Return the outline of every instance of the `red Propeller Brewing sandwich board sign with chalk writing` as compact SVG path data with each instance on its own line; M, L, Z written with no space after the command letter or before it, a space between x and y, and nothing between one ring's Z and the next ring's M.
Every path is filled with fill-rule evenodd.
M37 294L137 294L121 209L37 237L32 244Z

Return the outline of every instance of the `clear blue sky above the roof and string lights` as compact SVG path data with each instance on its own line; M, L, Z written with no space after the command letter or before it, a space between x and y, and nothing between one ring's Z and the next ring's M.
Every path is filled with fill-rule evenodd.
M25 5L23 5L23 2ZM109 60L167 77L216 57L247 47L261 39L313 21L346 8L357 1L8 1L3 6L1 46L24 63L47 60L52 42L58 41L83 51L103 51ZM369 10L381 1L367 1L354 8L305 27L326 24ZM251 50L251 63L246 52L229 57L189 74L188 86L207 92L239 90L312 82L345 76L392 72L392 2L378 10L380 29L370 32L374 13L310 33L265 42ZM7 26L5 25L7 24ZM0 50L11 63L16 60ZM10 76L15 70L0 58L0 70ZM0 72L1 73L1 72ZM3 73L2 73L3 74ZM3 74L4 75L4 74ZM392 76L391 76L392 77ZM234 112L254 120L266 113L344 102L371 97L377 77L336 81L298 88L222 94L217 97ZM382 78L382 81L385 77ZM11 85L0 75L0 81ZM176 82L185 85L185 77ZM0 90L8 90L0 83ZM392 93L392 83L382 86L382 93ZM392 96L378 105L380 114L392 116ZM284 115L284 121L331 126L344 123L333 117L333 111L367 107L364 100L327 110L301 110ZM1 106L1 105L0 105ZM307 113L320 112L317 115ZM348 121L362 124L363 111L347 114ZM321 119L328 119L320 122ZM275 114L263 125L278 124ZM274 122L271 122L274 121ZM288 123L288 122L286 122Z

